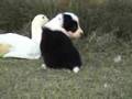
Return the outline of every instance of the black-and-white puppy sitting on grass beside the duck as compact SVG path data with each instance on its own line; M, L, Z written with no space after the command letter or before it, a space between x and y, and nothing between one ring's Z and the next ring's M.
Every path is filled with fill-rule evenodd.
M47 22L43 28L41 41L41 52L46 66L68 68L78 73L81 58L72 38L79 38L81 34L78 16L74 13L59 13Z

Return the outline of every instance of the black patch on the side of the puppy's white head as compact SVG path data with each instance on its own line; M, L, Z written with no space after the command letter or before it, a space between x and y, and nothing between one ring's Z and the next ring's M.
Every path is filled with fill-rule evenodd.
M63 14L63 28L66 31L75 32L78 29L77 22L73 20L72 15L69 14Z

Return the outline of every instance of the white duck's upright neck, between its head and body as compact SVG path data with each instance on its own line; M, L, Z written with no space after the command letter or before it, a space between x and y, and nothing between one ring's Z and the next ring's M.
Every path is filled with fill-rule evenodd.
M41 43L42 37L42 28L35 24L32 24L31 29L31 40L37 44Z

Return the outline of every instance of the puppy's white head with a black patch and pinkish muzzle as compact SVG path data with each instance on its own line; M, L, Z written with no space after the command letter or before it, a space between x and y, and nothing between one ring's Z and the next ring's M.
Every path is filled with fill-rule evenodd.
M72 12L57 14L47 22L46 28L62 31L70 38L78 38L84 34L78 16Z

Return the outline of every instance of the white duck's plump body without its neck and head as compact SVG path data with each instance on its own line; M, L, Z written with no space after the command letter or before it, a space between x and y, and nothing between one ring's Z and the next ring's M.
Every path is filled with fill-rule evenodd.
M7 40L8 38L8 40ZM26 36L8 33L0 35L3 57L37 59L41 56L40 45Z

